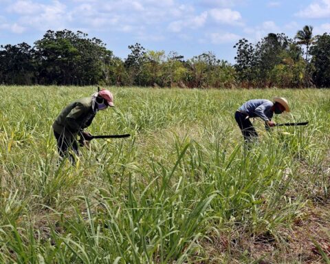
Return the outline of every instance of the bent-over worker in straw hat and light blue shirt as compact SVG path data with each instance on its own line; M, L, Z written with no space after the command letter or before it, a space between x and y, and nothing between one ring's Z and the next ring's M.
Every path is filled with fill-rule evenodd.
M274 113L289 112L289 104L283 97L275 97L274 102L266 99L253 99L245 102L235 113L235 119L242 131L245 142L252 142L258 137L250 118L261 118L266 127L275 126L272 121Z

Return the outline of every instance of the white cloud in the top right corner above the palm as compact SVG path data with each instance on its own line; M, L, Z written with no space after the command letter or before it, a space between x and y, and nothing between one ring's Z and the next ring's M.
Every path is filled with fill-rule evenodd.
M327 19L330 18L330 0L316 0L307 8L296 13L297 17L305 19Z

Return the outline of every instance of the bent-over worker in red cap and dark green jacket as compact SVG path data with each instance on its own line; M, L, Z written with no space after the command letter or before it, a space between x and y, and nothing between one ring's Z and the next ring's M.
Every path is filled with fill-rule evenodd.
M84 144L91 140L91 134L84 129L91 124L98 111L108 107L114 107L114 104L113 95L106 89L101 89L90 97L68 104L53 124L58 154L61 157L69 155L70 161L75 164L74 155L69 153L69 148L79 155L77 135L80 135Z

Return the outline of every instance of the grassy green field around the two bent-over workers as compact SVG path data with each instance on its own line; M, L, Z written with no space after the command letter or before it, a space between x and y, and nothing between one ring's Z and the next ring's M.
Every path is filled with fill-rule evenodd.
M76 166L52 122L96 87L0 86L0 263L330 263L330 89L107 87ZM243 148L234 112L287 98ZM283 133L284 132L284 133Z

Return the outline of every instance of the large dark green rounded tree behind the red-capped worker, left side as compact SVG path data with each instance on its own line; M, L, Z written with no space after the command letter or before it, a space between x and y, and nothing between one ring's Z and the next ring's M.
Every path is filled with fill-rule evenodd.
M87 36L80 31L48 30L34 43L41 83L93 85L102 80L102 63L112 52L99 39Z

